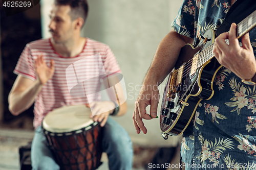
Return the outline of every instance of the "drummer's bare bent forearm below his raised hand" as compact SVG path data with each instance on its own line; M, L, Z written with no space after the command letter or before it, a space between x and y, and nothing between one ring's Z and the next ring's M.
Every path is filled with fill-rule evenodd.
M36 80L24 91L11 91L8 96L10 112L18 115L32 106L41 87L39 80Z

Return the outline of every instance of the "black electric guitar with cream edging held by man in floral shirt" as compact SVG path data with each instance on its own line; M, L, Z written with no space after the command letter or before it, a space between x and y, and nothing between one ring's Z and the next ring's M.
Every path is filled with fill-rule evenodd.
M256 26L256 11L237 25L237 38ZM180 135L195 118L201 100L214 95L212 84L222 67L212 53L215 40L214 30L208 30L194 47L186 44L170 72L163 93L160 111L160 128L164 139L168 135ZM200 104L201 105L201 104Z

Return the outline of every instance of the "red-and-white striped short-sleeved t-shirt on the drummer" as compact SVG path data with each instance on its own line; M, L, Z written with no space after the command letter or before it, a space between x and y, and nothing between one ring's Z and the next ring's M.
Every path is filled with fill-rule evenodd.
M78 60L86 57L100 54L102 61L88 60L82 67L80 72L86 72L89 77L97 77L100 70L99 63L103 63L106 74L113 72L121 72L120 67L116 61L114 54L110 47L101 42L86 38L86 44L84 44L82 52L71 58L62 57L56 53L53 49L50 39L39 39L32 41L26 45L22 54L19 57L18 63L14 69L14 73L22 75L33 81L36 80L36 74L34 70L34 60L42 54L46 63L49 63L51 59L55 62L55 71L53 77L42 87L39 94L36 96L34 105L34 121L33 126L37 128L41 125L42 119L52 110L61 106L69 105L83 105L88 104L86 96L73 96L69 93L67 78L72 75L66 75L66 69ZM74 64L73 64L74 65ZM79 71L77 69L76 71ZM66 78L67 76L67 78ZM74 77L74 80L77 78ZM90 79L87 81L86 89L95 87L100 88L100 81L96 79ZM95 96L96 99L100 99L100 96Z

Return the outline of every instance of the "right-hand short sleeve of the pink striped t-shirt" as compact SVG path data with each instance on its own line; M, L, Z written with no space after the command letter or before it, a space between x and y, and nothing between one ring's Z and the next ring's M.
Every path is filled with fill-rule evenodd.
M114 72L121 73L121 69L117 63L116 57L114 56L109 46L106 48L105 51L103 66L107 75L111 75Z

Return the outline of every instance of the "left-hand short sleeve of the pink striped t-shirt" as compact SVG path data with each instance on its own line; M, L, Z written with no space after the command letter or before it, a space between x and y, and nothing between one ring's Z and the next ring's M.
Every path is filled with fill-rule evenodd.
M36 80L34 61L32 59L29 44L27 44L26 47L24 48L13 72L16 75L22 75L23 77L26 77L33 81Z

